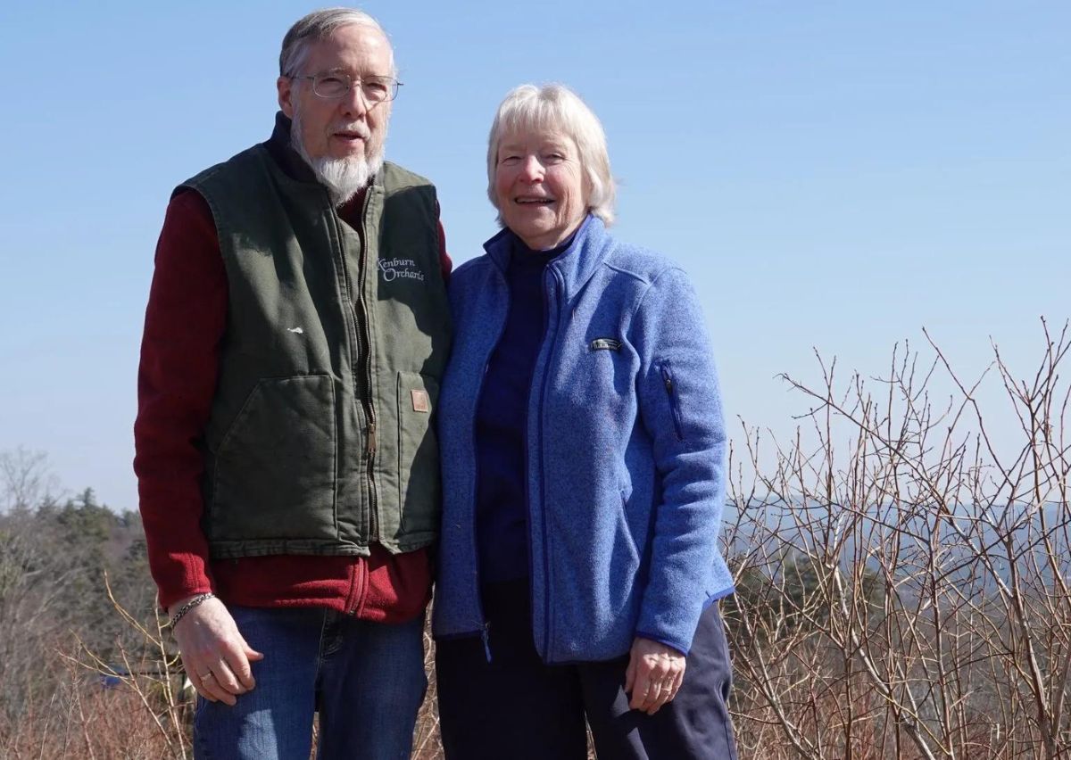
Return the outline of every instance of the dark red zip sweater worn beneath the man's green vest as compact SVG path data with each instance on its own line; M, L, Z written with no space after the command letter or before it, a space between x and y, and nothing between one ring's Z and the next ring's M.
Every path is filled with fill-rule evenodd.
M340 216L361 229L363 193ZM451 270L439 225L443 277ZM209 557L200 528L203 469L197 443L208 423L227 324L227 273L208 203L184 192L167 207L156 244L138 371L134 470L149 567L160 604L213 591L246 607L328 607L376 622L404 622L431 596L427 549L369 557Z

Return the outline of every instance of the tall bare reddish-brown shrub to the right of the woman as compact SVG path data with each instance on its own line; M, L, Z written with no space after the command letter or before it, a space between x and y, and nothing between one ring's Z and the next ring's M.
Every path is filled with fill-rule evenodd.
M808 429L788 442L745 429L726 527L740 591L726 617L746 756L1071 753L1071 441L1058 373L1071 340L1066 326L1045 337L1027 380L994 347L987 373L1020 425L999 446L982 379L965 383L933 341L924 363L897 351L870 382L839 383L835 362L819 359L817 389L785 378L814 405ZM953 389L940 405L937 373Z

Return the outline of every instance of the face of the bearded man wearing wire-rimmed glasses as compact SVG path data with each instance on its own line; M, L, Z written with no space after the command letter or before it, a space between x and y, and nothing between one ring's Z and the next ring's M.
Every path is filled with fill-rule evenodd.
M383 34L365 25L337 29L310 45L299 76L344 72L351 77L391 76L391 48ZM364 158L382 154L391 103L367 103L360 87L341 97L325 98L313 92L308 79L280 77L278 105L290 119L300 110L298 136L305 154L319 158Z

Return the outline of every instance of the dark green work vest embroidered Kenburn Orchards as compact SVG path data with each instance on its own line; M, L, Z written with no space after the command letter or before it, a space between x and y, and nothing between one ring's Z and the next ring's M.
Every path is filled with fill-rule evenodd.
M212 556L432 544L451 335L435 188L384 165L362 245L262 145L182 186L212 210L229 293L202 441Z

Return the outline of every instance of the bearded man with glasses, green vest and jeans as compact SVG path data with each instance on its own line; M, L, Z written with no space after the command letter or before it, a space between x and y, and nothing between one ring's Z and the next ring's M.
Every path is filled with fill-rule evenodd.
M135 470L198 757L408 757L450 349L434 187L383 162L379 25L283 40L271 138L171 196Z

